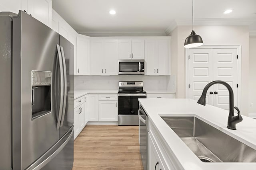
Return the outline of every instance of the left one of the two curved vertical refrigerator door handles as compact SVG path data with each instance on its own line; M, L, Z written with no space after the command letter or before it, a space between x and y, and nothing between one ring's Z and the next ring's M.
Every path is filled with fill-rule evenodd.
M62 116L62 108L63 108L63 91L64 91L64 85L63 85L63 64L62 64L62 55L60 52L60 46L57 44L57 51L58 51L58 61L60 63L60 109L59 109L59 115L58 115L58 121L57 121L57 129L60 128L60 120Z

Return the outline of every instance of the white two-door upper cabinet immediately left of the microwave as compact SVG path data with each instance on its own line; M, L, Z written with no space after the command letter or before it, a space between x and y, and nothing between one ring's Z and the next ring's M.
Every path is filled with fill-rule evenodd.
M90 75L118 75L118 40L90 40Z

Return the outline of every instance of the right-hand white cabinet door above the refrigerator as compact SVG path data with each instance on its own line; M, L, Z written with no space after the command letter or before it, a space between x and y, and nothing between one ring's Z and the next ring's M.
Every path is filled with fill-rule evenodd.
M27 3L28 14L48 27L52 26L52 0L27 0Z

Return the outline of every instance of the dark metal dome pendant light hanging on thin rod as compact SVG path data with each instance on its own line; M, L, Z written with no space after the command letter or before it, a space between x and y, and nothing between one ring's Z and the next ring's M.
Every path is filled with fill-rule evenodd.
M193 48L193 47L199 47L201 45L203 45L202 37L200 35L196 35L194 31L194 0L192 0L192 32L185 39L184 47Z

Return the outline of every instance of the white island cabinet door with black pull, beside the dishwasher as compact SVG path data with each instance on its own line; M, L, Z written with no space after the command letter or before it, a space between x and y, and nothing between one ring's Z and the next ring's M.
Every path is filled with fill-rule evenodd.
M148 133L148 169L165 170L150 133Z

